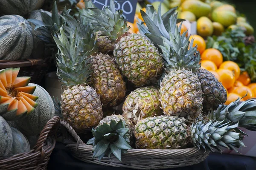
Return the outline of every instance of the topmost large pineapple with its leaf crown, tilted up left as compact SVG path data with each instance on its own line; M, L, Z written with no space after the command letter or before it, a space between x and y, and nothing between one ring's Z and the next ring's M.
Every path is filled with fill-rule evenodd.
M163 71L163 61L154 44L143 35L128 32L130 27L122 11L116 11L114 0L104 11L96 8L91 0L85 3L93 6L90 8L93 14L85 15L92 27L114 43L113 56L122 75L137 87L155 80Z

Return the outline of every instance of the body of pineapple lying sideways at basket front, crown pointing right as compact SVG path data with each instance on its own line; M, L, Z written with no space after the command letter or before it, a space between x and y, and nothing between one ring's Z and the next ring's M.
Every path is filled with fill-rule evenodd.
M187 126L177 116L141 119L134 129L138 149L181 149L188 143Z

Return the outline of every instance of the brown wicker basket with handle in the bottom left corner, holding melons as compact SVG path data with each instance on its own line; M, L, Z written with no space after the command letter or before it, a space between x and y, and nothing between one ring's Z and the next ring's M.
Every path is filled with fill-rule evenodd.
M12 155L8 158L0 157L0 170L46 170L50 155L55 147L56 131L59 124L60 118L58 116L50 119L30 152Z

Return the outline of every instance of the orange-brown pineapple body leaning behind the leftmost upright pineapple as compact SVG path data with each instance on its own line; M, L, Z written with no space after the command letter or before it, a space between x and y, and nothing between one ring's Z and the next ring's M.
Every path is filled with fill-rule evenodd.
M125 100L126 87L114 60L107 54L91 57L92 82L103 108L119 105Z

